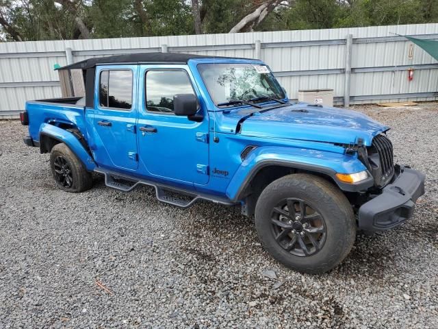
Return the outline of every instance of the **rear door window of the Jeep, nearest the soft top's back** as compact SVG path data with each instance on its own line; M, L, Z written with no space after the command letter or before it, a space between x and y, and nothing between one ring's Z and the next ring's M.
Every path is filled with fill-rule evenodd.
M132 71L101 71L99 103L105 108L129 110L132 106Z

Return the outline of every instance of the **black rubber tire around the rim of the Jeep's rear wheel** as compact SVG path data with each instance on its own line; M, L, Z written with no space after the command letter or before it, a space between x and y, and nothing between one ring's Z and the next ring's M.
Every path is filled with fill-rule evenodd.
M70 177L73 177L71 186L65 186L66 184L63 184L58 179L60 174L57 174L55 171L55 161L59 162L60 159L65 159L69 173L71 173ZM92 187L92 174L87 171L81 160L79 160L73 151L64 143L59 143L52 148L50 153L50 167L57 187L63 191L79 193L87 191ZM59 165L57 165L57 170L59 171Z

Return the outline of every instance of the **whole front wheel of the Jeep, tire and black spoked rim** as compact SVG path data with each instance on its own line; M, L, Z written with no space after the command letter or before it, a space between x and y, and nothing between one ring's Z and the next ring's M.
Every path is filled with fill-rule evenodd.
M281 263L323 273L342 262L356 236L348 199L330 182L309 174L275 180L261 193L255 225L263 247Z

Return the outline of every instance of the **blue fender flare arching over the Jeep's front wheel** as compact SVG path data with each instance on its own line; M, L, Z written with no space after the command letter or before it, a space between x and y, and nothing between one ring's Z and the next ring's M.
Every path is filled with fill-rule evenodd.
M242 162L227 186L227 197L235 202L240 201L246 186L250 184L257 172L263 167L272 165L329 175L342 191L363 191L374 184L370 173L366 180L355 184L337 180L336 173L357 173L367 170L363 163L354 156L298 147L266 146L257 147Z

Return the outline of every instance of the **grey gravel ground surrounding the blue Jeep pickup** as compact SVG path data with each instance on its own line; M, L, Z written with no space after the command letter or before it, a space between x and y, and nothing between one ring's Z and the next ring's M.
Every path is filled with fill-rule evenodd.
M438 104L355 110L393 128L427 192L319 276L276 263L237 208L181 210L99 177L60 191L25 127L1 121L0 328L438 328Z

